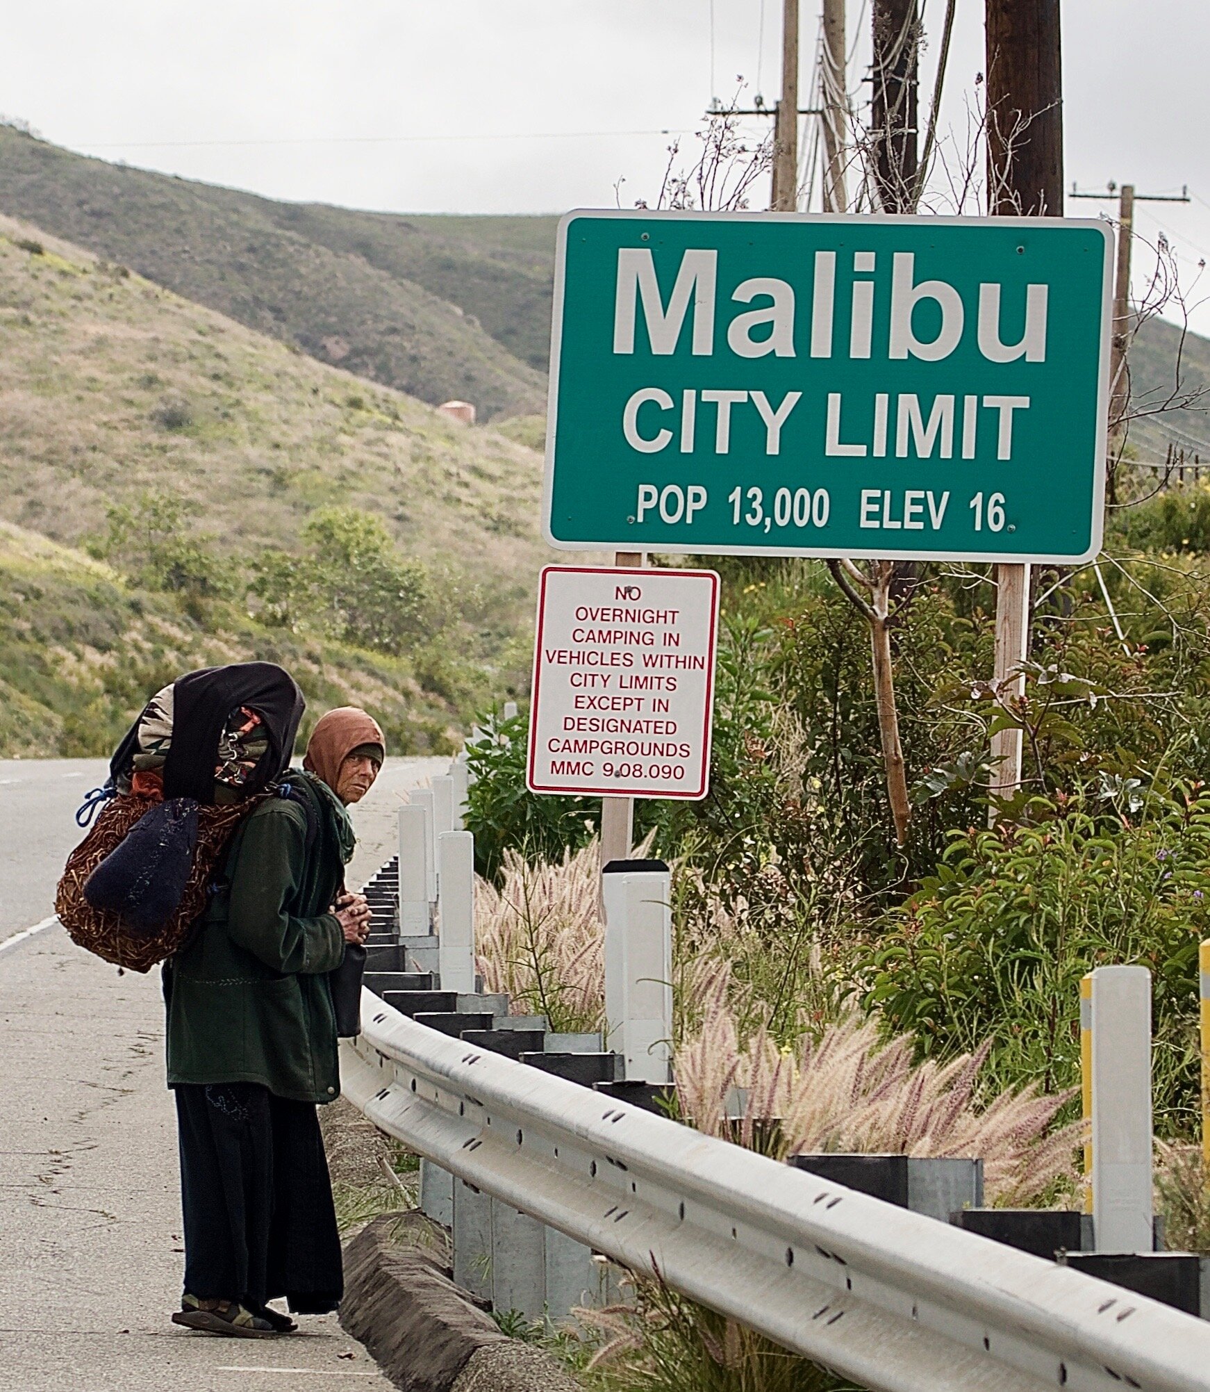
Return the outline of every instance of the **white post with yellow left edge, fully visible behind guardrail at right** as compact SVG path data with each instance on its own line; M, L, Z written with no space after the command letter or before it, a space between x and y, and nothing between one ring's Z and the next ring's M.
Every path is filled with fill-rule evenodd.
M1097 1251L1152 1251L1152 973L1092 973L1092 1204Z

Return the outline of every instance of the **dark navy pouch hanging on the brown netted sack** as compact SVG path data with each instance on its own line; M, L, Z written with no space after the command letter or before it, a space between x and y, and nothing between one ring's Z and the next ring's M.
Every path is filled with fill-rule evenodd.
M88 877L83 896L95 909L120 913L132 933L150 935L177 912L196 848L197 803L156 803Z

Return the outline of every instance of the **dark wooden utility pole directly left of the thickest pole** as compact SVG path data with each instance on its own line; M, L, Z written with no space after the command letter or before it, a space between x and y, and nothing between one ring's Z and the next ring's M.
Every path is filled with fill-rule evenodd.
M885 213L910 213L917 182L917 0L873 0L869 139Z

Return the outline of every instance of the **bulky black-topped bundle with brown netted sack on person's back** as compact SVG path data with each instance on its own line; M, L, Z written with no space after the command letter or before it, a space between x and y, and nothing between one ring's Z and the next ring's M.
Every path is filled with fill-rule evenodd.
M181 677L171 707L163 800L115 792L129 786L140 715L110 761L108 800L68 859L56 896L75 942L136 972L150 970L188 938L235 827L289 763L305 702L281 667L239 663ZM266 750L241 800L217 803L220 738L241 707L260 717Z

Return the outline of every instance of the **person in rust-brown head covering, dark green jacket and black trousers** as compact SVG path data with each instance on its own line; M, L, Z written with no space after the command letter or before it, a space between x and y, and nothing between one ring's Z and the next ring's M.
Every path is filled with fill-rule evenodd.
M339 1093L328 973L370 920L364 896L344 891L345 805L369 791L385 746L348 709L318 722L312 746L307 771L282 774L236 832L202 930L167 973L185 1218L172 1320L241 1338L296 1328L270 1300L325 1314L344 1293L316 1104ZM220 774L241 763L232 754Z

